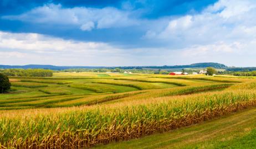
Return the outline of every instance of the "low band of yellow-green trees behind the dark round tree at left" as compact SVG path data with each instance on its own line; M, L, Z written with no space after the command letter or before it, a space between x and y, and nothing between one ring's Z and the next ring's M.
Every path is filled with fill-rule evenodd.
M6 69L0 70L1 73L7 76L14 77L52 77L52 70L44 70L44 69Z

